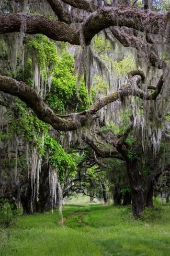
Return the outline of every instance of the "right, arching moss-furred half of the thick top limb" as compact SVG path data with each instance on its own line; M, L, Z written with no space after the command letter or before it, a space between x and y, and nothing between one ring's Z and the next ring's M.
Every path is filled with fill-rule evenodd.
M158 14L156 12L144 13L143 10L126 6L106 7L85 20L83 33L86 44L88 44L94 35L110 26L126 26L142 32L161 34L160 29L163 27L168 33L168 22L168 15Z

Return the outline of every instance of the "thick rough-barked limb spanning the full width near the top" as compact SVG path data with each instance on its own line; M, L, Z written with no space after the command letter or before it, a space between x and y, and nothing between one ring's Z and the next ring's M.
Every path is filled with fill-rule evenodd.
M169 16L160 13L144 13L143 10L132 7L105 7L92 13L83 23L80 30L75 26L56 22L46 17L32 14L1 14L0 34L21 31L27 34L44 34L58 41L80 45L80 33L83 31L85 44L90 44L99 31L110 26L126 26L152 34L169 33ZM161 31L160 31L161 30ZM169 35L165 35L167 38Z

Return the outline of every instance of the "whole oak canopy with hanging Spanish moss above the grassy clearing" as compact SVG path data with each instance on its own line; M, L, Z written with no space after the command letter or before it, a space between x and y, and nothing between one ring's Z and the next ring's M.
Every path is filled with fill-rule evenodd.
M103 191L104 201L107 187L118 204L132 196L134 215L153 205L153 187L169 172L168 8L0 1L3 196L10 177L22 205L27 197L42 207L49 193L55 205L68 186Z

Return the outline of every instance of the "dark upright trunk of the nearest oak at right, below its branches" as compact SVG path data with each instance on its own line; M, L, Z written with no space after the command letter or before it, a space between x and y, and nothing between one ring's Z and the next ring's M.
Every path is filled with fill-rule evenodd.
M142 175L138 169L137 160L127 161L127 172L132 193L132 212L139 216L144 212L144 195L142 186Z

